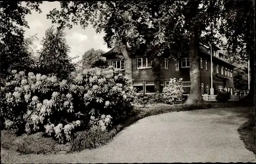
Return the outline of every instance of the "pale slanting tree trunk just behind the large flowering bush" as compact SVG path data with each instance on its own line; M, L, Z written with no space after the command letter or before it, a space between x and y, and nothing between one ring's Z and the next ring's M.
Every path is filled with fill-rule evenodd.
M125 39L122 39L120 41L120 49L124 57L125 76L127 76L130 79L133 79L133 60Z

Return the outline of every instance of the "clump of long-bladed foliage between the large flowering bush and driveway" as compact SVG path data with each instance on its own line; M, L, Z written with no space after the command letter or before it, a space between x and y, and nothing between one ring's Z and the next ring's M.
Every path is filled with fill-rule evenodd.
M116 134L116 130L102 131L100 127L93 126L88 131L79 131L75 134L71 151L93 149L105 145Z

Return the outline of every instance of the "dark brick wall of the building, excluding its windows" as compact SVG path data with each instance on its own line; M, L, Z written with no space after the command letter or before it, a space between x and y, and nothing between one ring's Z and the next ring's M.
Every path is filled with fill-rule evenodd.
M220 56L223 54L219 54ZM200 63L200 75L201 75L201 85L203 83L203 94L210 94L210 88L211 88L211 66L210 66L210 54L209 49L207 49L205 46L200 46L200 53L199 53L199 63ZM106 61L109 65L112 65L112 61L120 60L119 58L108 55L105 56ZM143 58L143 55L137 55L135 56L133 61L133 80L134 82L137 82L136 84L141 85L139 86L142 88L143 83L143 92L145 93L145 86L151 86L150 84L146 85L146 83L150 83L150 81L154 81L154 75L152 73L151 67L145 67L145 68L138 68L138 58ZM201 59L202 59L202 68L201 68ZM140 60L140 59L139 59ZM143 59L145 60L145 59ZM160 70L160 78L162 80L162 87L165 86L165 81L169 81L170 78L176 78L180 79L182 78L183 82L190 82L190 73L189 73L189 67L182 67L182 61L178 61L179 69L176 70L176 61L173 59L168 59L168 68L165 68L165 60L164 58L161 58L161 70ZM144 61L143 61L144 62ZM148 61L149 63L150 61ZM144 62L145 63L145 62ZM227 90L230 91L230 88L232 89L232 93L234 94L233 89L233 76L231 77L230 71L233 70L234 66L226 62L224 59L221 59L216 56L212 56L212 63L214 67L214 72L212 72L212 86L214 88L214 95L217 94L219 86L222 86L223 89L227 87ZM141 63L139 63L141 64ZM217 65L219 65L219 74L217 73ZM221 66L224 67L223 75L221 75ZM207 68L207 70L206 70ZM227 71L229 69L229 74L225 73L226 69ZM122 71L123 74L125 71ZM227 76L226 76L227 75ZM140 83L140 84L139 84ZM201 86L200 85L200 86ZM207 89L208 86L208 89ZM150 87L148 87L150 88ZM187 89L186 89L187 90ZM207 91L208 90L208 91Z

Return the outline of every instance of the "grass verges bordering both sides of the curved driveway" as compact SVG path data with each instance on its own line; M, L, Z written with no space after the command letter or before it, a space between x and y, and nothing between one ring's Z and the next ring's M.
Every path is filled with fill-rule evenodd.
M241 105L242 106L242 105ZM51 137L42 137L42 133L32 135L16 136L9 131L2 131L1 146L4 149L16 151L20 154L49 154L49 153L68 153L72 151L80 151L83 149L93 149L105 145L112 138L127 126L130 126L140 119L147 116L157 115L167 112L178 112L186 110L220 108L220 107L238 107L237 103L204 103L198 105L166 105L162 103L150 104L142 108L135 106L131 115L122 120L114 130L102 133L99 130L77 132L76 137L71 144L59 145L56 140ZM244 124L240 129L241 138L243 139L246 148L255 152L255 144L253 149L253 127L252 116L247 124ZM254 117L253 117L254 118ZM255 129L255 125L254 125ZM255 140L255 135L254 135Z

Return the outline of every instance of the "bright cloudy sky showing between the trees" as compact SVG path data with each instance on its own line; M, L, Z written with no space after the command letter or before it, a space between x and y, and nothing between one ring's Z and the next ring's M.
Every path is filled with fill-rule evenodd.
M43 2L40 5L42 11L40 14L32 11L31 15L26 16L30 29L26 29L25 38L37 34L36 36L39 41L35 41L34 44L38 50L42 48L40 41L42 37L45 37L46 30L53 25L51 20L47 19L46 15L54 8L60 9L59 2ZM57 27L57 25L54 25L54 27ZM69 55L71 57L79 56L73 62L80 60L84 52L91 48L95 50L101 49L105 52L110 50L103 41L104 33L97 34L91 25L85 30L79 25L74 25L71 30L66 28L64 32L66 33L67 43L71 48Z

